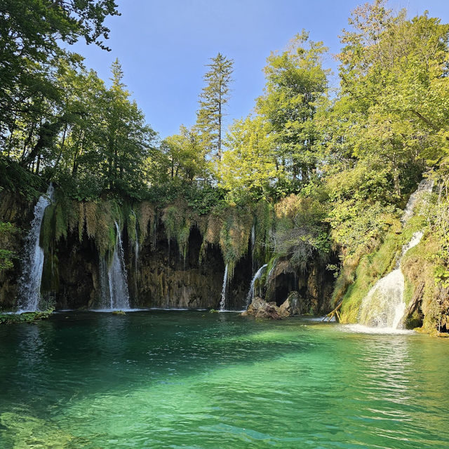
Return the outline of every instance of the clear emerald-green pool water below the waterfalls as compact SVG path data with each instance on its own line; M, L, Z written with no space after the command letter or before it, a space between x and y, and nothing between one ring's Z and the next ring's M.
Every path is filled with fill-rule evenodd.
M0 448L446 448L449 342L148 311L0 328Z

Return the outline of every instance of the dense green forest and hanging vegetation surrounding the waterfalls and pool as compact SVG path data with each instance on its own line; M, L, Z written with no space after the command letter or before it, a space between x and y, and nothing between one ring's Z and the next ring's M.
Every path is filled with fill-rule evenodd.
M342 321L354 321L370 286L424 229L403 261L406 302L419 304L410 323L448 328L449 25L394 13L384 0L356 8L335 56L337 91L323 67L328 48L303 30L268 55L253 112L229 128L233 60L217 53L195 125L162 140L118 60L105 82L70 51L79 39L107 51L105 19L118 14L114 0L1 1L0 195L35 203L53 182L41 235L52 264L71 234L110 258L114 222L135 245L159 220L184 259L199 229L200 257L220 248L230 277L248 250L256 268L283 261L300 274L319 260L335 279L321 311L340 307ZM423 178L434 191L403 226ZM23 230L2 212L7 277Z

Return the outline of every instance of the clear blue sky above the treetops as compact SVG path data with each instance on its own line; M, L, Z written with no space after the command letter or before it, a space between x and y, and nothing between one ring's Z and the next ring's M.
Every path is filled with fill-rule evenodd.
M195 121L198 95L208 58L219 51L234 59L234 83L227 122L246 116L264 86L262 69L271 51L283 50L303 28L314 41L338 53L338 35L360 0L118 0L121 16L109 18L110 52L77 43L87 67L109 79L119 58L124 82L145 112L148 123L164 138L181 123ZM410 15L426 9L449 22L448 0L391 0L393 9ZM335 72L330 55L326 67Z

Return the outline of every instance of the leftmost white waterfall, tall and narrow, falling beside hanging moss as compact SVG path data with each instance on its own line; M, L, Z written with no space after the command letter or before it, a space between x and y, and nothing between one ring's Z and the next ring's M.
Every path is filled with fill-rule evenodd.
M41 279L43 269L43 249L39 246L43 213L53 201L53 184L46 194L39 197L34 206L31 229L25 239L25 256L22 260L22 276L19 279L19 311L36 311L41 299Z

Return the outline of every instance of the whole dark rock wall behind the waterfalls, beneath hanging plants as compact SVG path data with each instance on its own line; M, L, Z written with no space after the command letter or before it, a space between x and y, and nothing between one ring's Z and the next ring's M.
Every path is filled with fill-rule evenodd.
M33 217L34 203L35 201L28 202L14 194L4 194L1 197L0 220L11 222L18 229L18 232L8 236L11 241L4 242L3 247L7 245L15 250L18 257L11 269L0 272L0 309L15 307L17 281L21 272L21 251L29 231L29 222ZM94 236L93 232L88 232L87 206L88 203L79 203L80 210L85 209L86 215L79 215L81 225L67 225L67 232L57 234L58 237L55 237L53 232L52 244L46 246L41 293L44 299L48 300L48 304L55 303L58 309L95 308L102 304L98 241L95 241L96 234ZM97 209L102 208L98 206L95 210ZM208 237L205 240L204 230L200 232L194 225L187 234L187 250L181 254L177 242L167 238L170 233L164 229L161 217L158 218L157 213L154 214L154 220L150 220L147 226L152 232L147 232L144 241L140 242L137 263L135 246L132 243L135 236L128 236L128 228L123 227L130 306L218 309L225 273L219 239ZM57 220L55 217L56 215L53 217L54 222L58 222L59 218ZM95 217L93 214L93 222ZM217 232L220 234L220 228L217 228ZM243 241L246 236L239 238ZM48 239L49 237L45 241L49 241ZM41 235L41 242L43 240ZM249 243L248 241L248 255L243 255L236 262L234 274L229 280L227 309L241 310L246 304L246 295L253 276ZM328 282L326 276L325 267L315 262L311 262L307 272L298 273L288 260L279 261L267 283L265 299L268 303L273 303L272 307L276 307L274 311L269 311L269 314L279 314L279 306L291 291L298 291L300 294L299 305L295 306L299 307L300 312L307 312L311 308L314 311L325 309L332 288L332 282ZM260 290L262 293L264 288ZM290 308L289 305L289 311L282 310L281 315L290 313Z

